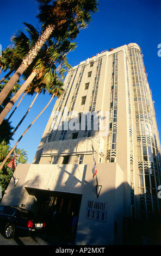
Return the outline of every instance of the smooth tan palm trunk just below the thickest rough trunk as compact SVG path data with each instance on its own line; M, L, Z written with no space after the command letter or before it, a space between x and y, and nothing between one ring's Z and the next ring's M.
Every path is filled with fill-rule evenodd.
M22 86L17 91L17 93L15 93L15 95L11 98L11 100L5 106L5 108L3 109L3 111L0 114L0 125L2 124L2 122L3 122L4 118L6 117L6 115L9 113L10 109L14 106L15 102L19 99L19 97L22 95L24 90L26 90L26 88L28 87L30 82L33 81L35 76L36 76L36 72L33 71L32 74L30 74L30 76L27 78L27 80L22 84Z

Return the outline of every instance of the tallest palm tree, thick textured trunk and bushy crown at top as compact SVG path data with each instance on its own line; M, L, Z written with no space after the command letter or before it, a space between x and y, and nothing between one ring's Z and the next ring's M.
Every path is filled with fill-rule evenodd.
M40 3L38 18L42 23L42 34L3 88L0 104L50 37L75 39L79 29L85 28L91 21L91 13L97 11L97 0L57 0L52 1L52 4L49 4L51 2L49 0L38 0L38 2Z

